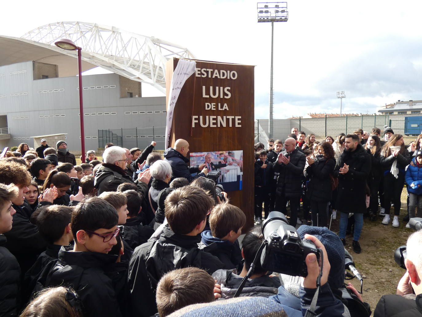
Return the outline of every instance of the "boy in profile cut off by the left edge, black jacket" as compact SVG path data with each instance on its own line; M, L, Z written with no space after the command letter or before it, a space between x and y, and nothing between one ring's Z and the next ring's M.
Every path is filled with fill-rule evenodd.
M18 261L5 248L6 237L3 233L12 229L12 216L16 212L11 200L16 199L19 189L14 185L0 183L0 314L16 316L18 290L21 270Z

